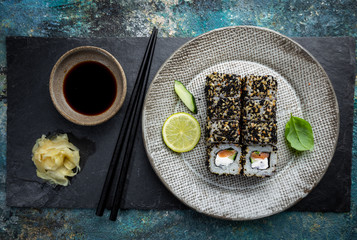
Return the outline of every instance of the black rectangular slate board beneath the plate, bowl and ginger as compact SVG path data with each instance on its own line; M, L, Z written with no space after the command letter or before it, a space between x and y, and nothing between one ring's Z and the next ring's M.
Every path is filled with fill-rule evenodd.
M110 157L131 94L148 38L27 38L9 37L7 181L8 206L94 208L99 199ZM163 62L189 39L158 39L151 77ZM355 43L353 38L295 38L325 68L339 102L340 136L332 163L320 184L291 208L297 211L350 210ZM108 122L94 127L77 126L53 107L48 79L57 59L83 45L102 47L121 63L128 81L126 101ZM81 149L82 171L68 187L52 188L37 178L31 149L42 134L62 131ZM186 208L164 187L146 157L141 129L127 176L124 209Z

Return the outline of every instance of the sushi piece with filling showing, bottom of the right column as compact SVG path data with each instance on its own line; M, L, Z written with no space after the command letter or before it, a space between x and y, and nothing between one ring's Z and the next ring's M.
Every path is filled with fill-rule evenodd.
M249 145L244 149L243 159L245 176L271 176L277 164L277 148L272 145Z

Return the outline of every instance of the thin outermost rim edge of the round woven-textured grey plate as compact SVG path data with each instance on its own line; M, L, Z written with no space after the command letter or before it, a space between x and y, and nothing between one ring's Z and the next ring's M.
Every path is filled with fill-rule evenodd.
M236 29L236 28L247 28L247 29L257 29L257 30L260 30L260 31L267 31L267 32L271 32L273 34L276 34L278 35L279 37L287 40L287 41L290 41L291 43L295 44L298 48L300 48L302 50L303 53L307 54L314 62L314 64L316 64L321 70L322 70L322 74L325 75L326 77L326 80L327 80L327 83L329 84L331 90L332 90L332 95L331 97L334 98L334 102L336 104L336 115L337 115L337 126L336 126L336 139L335 139L335 142L334 142L334 146L333 146L333 151L331 152L331 156L329 157L329 162L328 164L325 165L325 168L324 168L324 171L320 174L320 176L318 177L318 179L315 181L314 185L307 191L308 193L310 193L317 185L318 183L321 181L321 179L323 178L323 176L325 175L328 167L330 166L330 163L331 163L331 160L335 154L335 151L336 151L336 147L337 147L337 142L338 142L338 137L339 137L339 132L340 132L340 111L339 111L339 106L338 106L338 101L337 101L337 97L336 97L336 93L335 93L335 90L333 88L333 85L331 83L331 80L330 78L328 77L326 71L324 70L324 68L321 66L321 64L316 60L316 58L309 52L307 51L304 47L302 47L299 43L297 43L296 41L292 40L291 38L277 32L277 31L274 31L274 30L271 30L271 29L268 29L268 28L264 28L264 27L257 27L257 26L249 26L249 25L242 25L242 26L229 26L229 27L223 27L223 28L217 28L217 29L213 29L211 31L208 31L206 33L203 33L197 37L194 37L193 39L189 40L188 42L186 42L185 44L183 44L181 47L179 47L175 52L173 52L169 58L166 59L166 61L161 65L160 69L157 71L157 73L155 74L154 78L152 81L154 81L157 76L160 74L161 70L164 68L164 66L167 64L167 62L169 62L171 60L171 58L176 55L178 52L181 51L181 49L183 49L184 47L186 47L187 45L191 44L193 41L195 41L196 39L198 38L201 38L205 35L208 35L208 34L211 34L211 33L214 33L214 32L218 32L218 31L222 31L224 29ZM153 87L153 82L150 84L148 90L147 90L147 93L150 92L151 88ZM148 101L148 95L145 96L145 100L144 100L144 105L143 105L143 109L142 109L142 115L141 115L141 121L142 123L145 122L145 109L146 109L146 105L147 105L147 101ZM202 214L205 214L207 216L210 216L210 217L214 217L214 218L218 218L218 219L222 219L222 220L232 220L232 221L247 221L247 220L256 220L256 219L261 219L261 218L265 218L265 217L269 217L269 216L272 216L272 215L275 215L275 214L278 214L280 212L283 212L287 209L289 209L290 207L294 206L295 204L297 204L298 202L300 202L302 199L304 199L308 193L297 199L296 201L293 201L291 202L290 204L288 204L286 207L283 207L279 210L276 210L272 213L268 213L268 214L262 214L256 218L231 218L231 217L225 217L225 216L221 216L221 215L217 215L217 214L211 214L211 213L206 213L204 211L201 211L197 208L195 208L194 206L191 206L189 203L187 203L186 201L184 201L180 196L178 196L175 191L164 181L164 179L162 178L161 176L161 173L158 171L158 169L156 168L155 164L154 164L154 161L153 161L153 158L151 156L151 153L148 151L148 148L147 148L147 142L146 142L146 138L145 138L145 132L146 130L144 129L144 124L142 124L142 137L143 137L143 142L144 142L144 147L145 147L145 152L149 158L149 162L150 162L150 165L151 167L153 168L155 174L159 177L160 181L164 184L164 186L180 201L182 202L184 205L188 206L190 209L193 209L199 213L202 213Z

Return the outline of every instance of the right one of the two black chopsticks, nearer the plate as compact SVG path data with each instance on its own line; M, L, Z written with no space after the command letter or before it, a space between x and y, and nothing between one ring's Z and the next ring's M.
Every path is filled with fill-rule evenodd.
M135 114L132 118L133 126L130 128L130 133L129 133L129 140L128 140L128 145L125 150L125 154L122 154L121 157L123 158L123 167L121 168L121 172L119 175L118 183L116 185L116 191L115 191L115 196L114 196L114 203L111 209L110 217L109 219L112 221L115 221L118 215L118 210L122 201L122 196L123 196L123 191L125 188L125 182L126 182L126 177L127 177L127 172L130 166L130 159L131 155L133 152L133 147L134 147L134 142L135 142L135 135L140 123L140 115L141 115L141 110L143 107L144 103L144 97L145 97L145 91L146 91L146 86L149 80L149 74L150 74L150 68L151 68L151 63L155 51L155 45L156 45L156 35L154 37L153 41L153 47L151 49L151 52L149 54L149 60L148 64L145 70L145 74L143 76L144 79L144 86L140 91L140 96L135 104Z

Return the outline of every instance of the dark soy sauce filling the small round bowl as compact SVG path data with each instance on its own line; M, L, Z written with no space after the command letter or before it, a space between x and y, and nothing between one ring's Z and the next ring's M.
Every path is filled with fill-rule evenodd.
M73 110L92 116L111 107L117 94L117 84L106 66L87 61L69 70L64 79L63 92Z

